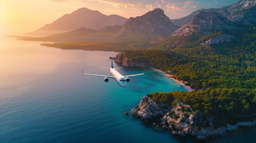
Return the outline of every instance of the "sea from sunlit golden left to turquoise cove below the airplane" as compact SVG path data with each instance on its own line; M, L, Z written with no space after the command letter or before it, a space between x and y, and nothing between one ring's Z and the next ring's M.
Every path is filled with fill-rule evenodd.
M0 42L0 142L195 142L153 128L130 113L141 98L155 91L186 91L162 73L147 69L131 77L127 87L109 79L83 75L110 75L116 52L61 50L42 42L3 38ZM121 67L114 63L114 67ZM143 72L123 68L123 75ZM211 142L246 142L256 139L255 129L241 129ZM247 131L247 132L246 132ZM246 133L244 133L246 132ZM252 139L252 140L248 140ZM254 139L254 140L253 140Z

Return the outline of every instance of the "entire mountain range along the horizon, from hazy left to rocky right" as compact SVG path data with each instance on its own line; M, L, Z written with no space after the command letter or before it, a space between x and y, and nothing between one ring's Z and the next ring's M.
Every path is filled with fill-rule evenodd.
M85 12L87 12L86 15L81 16ZM107 16L98 11L81 8L34 32L40 33L45 29L57 32L67 30L68 27L76 27L75 30L47 37L24 38L24 40L71 43L99 41L147 43L169 35L186 36L192 33L206 35L213 31L235 32L244 27L255 26L255 15L255 0L240 0L222 8L201 9L186 17L172 20L160 8L141 16L130 17L128 20L118 15ZM99 22L100 19L105 22ZM63 21L70 22L63 24Z

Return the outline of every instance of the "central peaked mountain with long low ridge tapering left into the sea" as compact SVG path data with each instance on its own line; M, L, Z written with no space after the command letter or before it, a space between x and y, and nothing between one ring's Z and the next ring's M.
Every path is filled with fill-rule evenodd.
M55 34L47 37L25 38L24 40L53 42L98 42L125 41L148 42L172 34L177 27L160 8L147 12L142 16L130 17L122 26L107 26L99 30L85 27Z

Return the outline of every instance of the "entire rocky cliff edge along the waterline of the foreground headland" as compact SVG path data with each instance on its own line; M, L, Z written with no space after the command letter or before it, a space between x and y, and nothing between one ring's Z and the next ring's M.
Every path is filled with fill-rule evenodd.
M156 103L147 96L144 96L139 105L131 110L131 114L146 122L153 120L156 116L162 116L160 119L161 128L172 130L174 135L191 135L200 140L225 137L227 131L235 131L239 126L252 127L256 124L256 120L254 120L253 122L238 122L233 126L228 124L225 127L214 128L213 117L209 116L203 121L198 117L200 116L199 113L194 114L189 105L178 102L171 107ZM202 124L206 126L202 127Z

